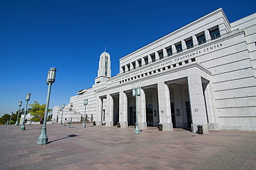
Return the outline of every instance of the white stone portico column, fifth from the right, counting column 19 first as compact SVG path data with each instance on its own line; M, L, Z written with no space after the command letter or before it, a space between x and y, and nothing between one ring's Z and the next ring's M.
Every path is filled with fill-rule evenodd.
M107 94L106 127L113 127L113 97Z

